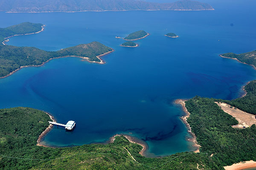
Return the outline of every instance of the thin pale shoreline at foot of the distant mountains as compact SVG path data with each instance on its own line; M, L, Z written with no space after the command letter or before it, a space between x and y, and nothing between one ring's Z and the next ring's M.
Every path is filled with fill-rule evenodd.
M21 11L6 11L5 13L49 13L49 12L66 12L66 13L72 13L72 12L107 12L107 11L214 11L215 9L124 9L124 10L84 10L84 11L41 11L41 12L21 12Z

